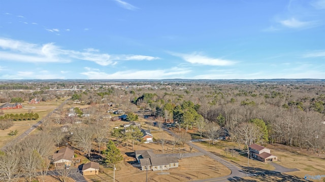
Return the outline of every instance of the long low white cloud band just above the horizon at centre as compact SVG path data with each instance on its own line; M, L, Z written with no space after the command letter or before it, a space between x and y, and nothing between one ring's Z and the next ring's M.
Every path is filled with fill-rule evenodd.
M89 68L90 69L90 68ZM170 78L185 78L185 74L190 72L187 68L172 67L170 69L156 70L125 70L118 71L112 74L104 71L89 70L81 72L88 79L170 79Z

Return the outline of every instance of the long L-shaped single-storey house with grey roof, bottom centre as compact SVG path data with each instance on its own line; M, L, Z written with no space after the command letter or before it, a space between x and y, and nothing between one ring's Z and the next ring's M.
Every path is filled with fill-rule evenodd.
M152 150L135 151L141 170L168 170L178 167L177 157L156 157Z

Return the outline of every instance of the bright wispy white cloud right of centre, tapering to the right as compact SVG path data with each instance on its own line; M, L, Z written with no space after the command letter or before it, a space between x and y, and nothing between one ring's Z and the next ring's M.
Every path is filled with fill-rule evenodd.
M211 65L211 66L228 66L228 65L235 64L235 62L231 60L211 58L197 52L193 52L191 54L181 54L181 53L171 53L171 54L177 57L181 57L185 61L192 64L202 64L202 65Z

